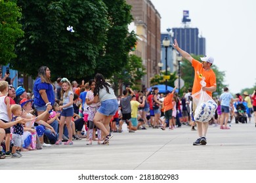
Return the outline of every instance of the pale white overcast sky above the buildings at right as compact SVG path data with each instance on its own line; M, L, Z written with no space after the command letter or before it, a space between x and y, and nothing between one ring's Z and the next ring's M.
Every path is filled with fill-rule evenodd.
M190 27L205 37L206 55L224 71L224 85L231 93L256 85L255 0L150 1L160 13L161 32L182 27L183 10L189 10Z

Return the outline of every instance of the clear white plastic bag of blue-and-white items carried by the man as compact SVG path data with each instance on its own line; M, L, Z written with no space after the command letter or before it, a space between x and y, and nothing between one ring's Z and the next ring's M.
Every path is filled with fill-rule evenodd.
M213 118L215 115L217 103L215 103L211 96L202 89L199 92L194 93L192 98L193 103L196 104L194 120L196 120L196 122L209 122L209 120L211 120L211 118Z

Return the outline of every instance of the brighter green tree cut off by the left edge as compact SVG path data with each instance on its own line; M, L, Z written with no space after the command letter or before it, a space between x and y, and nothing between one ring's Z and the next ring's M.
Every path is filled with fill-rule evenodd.
M21 13L15 1L0 0L0 12L0 65L7 65L11 59L16 58L14 44L24 32L22 25L17 22Z

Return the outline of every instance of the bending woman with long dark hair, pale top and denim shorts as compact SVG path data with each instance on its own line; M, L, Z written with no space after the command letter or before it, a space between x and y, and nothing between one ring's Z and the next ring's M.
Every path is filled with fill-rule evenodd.
M118 102L112 86L105 81L102 74L95 75L94 103L100 101L93 122L106 135L102 144L109 144L109 140L113 137L110 134L110 120L118 110Z

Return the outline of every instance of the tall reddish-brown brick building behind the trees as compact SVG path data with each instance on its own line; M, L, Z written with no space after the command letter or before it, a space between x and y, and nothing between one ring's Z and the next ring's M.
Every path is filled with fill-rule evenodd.
M159 73L161 59L161 16L150 0L126 0L132 6L131 14L135 33L139 36L137 48L133 54L142 58L146 75L142 78L142 87L150 87L150 78Z

